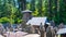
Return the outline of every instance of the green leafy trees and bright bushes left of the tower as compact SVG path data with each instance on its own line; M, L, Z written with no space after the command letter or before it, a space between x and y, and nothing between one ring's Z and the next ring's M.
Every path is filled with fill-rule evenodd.
M22 15L19 9L10 0L4 0L3 2L3 4L0 4L0 23L21 23Z

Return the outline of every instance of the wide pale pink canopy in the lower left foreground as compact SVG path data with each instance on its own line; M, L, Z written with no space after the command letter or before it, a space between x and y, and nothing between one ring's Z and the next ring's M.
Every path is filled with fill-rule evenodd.
M23 37L24 35L26 35L28 33L25 32L7 32L7 34L4 34L7 37Z

